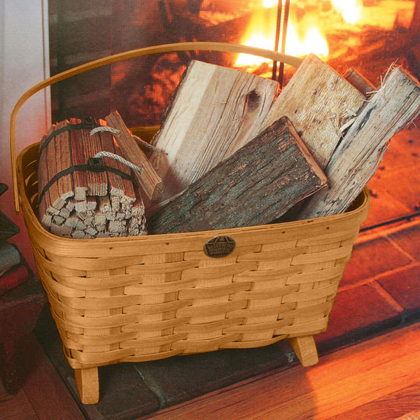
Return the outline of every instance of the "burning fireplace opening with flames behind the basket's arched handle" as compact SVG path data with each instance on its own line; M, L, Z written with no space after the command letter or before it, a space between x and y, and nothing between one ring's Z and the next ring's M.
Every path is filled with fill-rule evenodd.
M392 62L420 76L415 0L50 0L51 74L124 50L182 41L223 41L290 55L314 52L339 72L372 83ZM288 7L290 4L290 8ZM414 15L414 8L416 13ZM287 18L285 12L287 9ZM414 16L414 18L413 18ZM284 26L284 25L283 25ZM404 48L401 48L404 45ZM155 125L190 59L271 77L273 63L223 52L173 52L113 64L52 89L52 120L118 109L131 127ZM286 67L284 83L292 70Z

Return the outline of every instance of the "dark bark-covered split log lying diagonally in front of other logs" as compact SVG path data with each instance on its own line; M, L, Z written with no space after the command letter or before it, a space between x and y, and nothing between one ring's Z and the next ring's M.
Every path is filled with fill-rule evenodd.
M148 221L152 233L260 225L326 185L288 118L191 184Z

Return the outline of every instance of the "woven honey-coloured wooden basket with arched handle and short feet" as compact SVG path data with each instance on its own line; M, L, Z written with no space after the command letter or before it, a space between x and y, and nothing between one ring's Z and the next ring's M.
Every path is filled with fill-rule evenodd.
M23 211L32 250L64 355L84 404L99 400L98 367L289 339L302 365L318 362L314 335L327 329L339 281L370 207L367 188L342 214L245 228L139 237L69 239L39 223L38 149L16 158L16 120L29 97L100 66L181 50L239 52L292 66L301 59L230 43L156 45L59 73L20 97L10 116L15 209ZM151 132L147 127L143 132ZM211 258L204 246L236 246Z

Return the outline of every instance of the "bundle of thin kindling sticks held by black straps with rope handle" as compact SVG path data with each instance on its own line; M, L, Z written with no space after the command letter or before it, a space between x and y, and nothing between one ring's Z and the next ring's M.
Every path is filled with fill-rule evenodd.
M121 159L127 155L132 170ZM55 235L145 235L138 184L150 198L162 190L162 181L117 112L106 120L62 121L41 140L38 218Z

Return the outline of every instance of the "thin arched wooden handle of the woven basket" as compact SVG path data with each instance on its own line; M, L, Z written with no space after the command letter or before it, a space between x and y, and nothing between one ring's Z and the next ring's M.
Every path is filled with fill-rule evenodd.
M106 66L107 64L118 63L125 59L141 57L143 55L158 54L161 52L172 52L172 51L188 51L188 50L213 50L213 51L225 51L225 52L239 52L251 55L258 55L259 57L265 57L274 61L283 62L290 64L293 67L300 66L302 59L293 57L291 55L282 54L272 50L264 50L262 48L248 47L246 45L223 43L223 42L185 42L185 43L171 43L164 45L153 45L151 47L138 48L137 50L130 50L120 52L118 54L109 55L108 57L102 57L95 59L94 61L81 64L80 66L73 67L58 73L48 79L45 79L31 87L27 92L16 102L15 107L10 115L10 161L12 166L12 180L13 180L13 200L15 202L15 211L18 214L20 211L19 192L18 192L18 175L16 173L16 120L18 113L22 105L32 95L36 94L40 90L53 85L61 80L76 76L76 74L84 73L88 70L97 69L98 67Z

